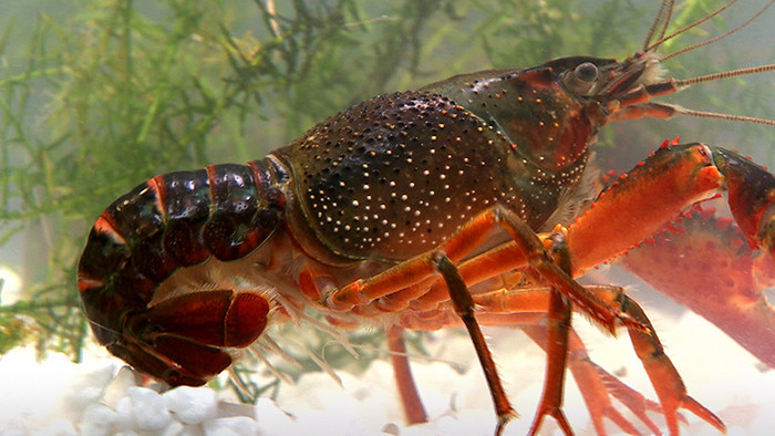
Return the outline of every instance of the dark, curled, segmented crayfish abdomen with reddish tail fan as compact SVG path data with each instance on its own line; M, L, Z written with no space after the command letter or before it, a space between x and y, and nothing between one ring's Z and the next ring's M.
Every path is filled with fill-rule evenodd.
M269 302L230 289L157 290L208 259L240 259L280 224L285 196L270 159L154 177L116 199L92 228L79 290L97 340L172 385L200 385L231 364L221 347L264 331Z

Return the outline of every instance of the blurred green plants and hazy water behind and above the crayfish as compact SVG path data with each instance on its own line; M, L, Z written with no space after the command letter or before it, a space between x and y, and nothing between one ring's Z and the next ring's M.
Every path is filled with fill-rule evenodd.
M686 1L672 29L721 1ZM664 44L738 24L740 4ZM489 68L634 52L659 8L627 0L0 0L0 352L34 343L80 359L75 266L97 215L156 174L247 162L370 96ZM775 11L668 62L678 77L775 62ZM775 117L773 74L665 101ZM597 146L624 170L666 137L771 160L775 128L619 123ZM20 293L12 294L12 274Z

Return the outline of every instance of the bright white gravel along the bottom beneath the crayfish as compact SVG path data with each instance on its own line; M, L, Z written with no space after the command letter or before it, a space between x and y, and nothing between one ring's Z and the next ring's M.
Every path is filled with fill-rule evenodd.
M692 394L728 426L731 435L765 435L775 428L775 371L765 370L723 333L693 314L674 321L650 312L668 352ZM592 357L653 398L627 335L607 338L576 325ZM544 354L519 332L488 330L506 390L521 418L506 427L523 435L533 418L544 377ZM0 360L2 435L492 435L495 419L482 372L467 339L440 332L428 349L440 360L413 360L430 424L406 427L386 361L361 376L338 372L340 387L323 373L310 373L279 390L276 401L237 404L228 392L179 387L159 394L141 387L117 360L91 356L73 364L50 354L37 362L31 349ZM462 374L448 362L464 367ZM568 383L566 413L579 434L592 434L576 385ZM715 435L710 425L684 414L689 435ZM654 415L659 424L659 416ZM559 434L547 419L542 434ZM610 429L616 434L616 428Z

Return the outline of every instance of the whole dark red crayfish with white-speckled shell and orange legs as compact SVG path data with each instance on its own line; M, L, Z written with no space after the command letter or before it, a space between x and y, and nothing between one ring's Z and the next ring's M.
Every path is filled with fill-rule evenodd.
M679 408L723 430L688 395L641 308L616 284L575 280L719 193L737 222L730 231L762 250L764 263L772 260L775 177L751 160L665 142L614 183L590 165L589 146L603 125L691 115L652 98L717 79L661 79L655 50L663 41L658 35L621 62L564 58L381 95L264 159L141 184L100 216L81 258L79 289L95 336L147 375L200 385L268 324L311 307L334 326L385 329L407 419L417 423L425 415L399 353L402 330L465 326L500 432L515 413L479 325L517 325L548 355L531 433L546 415L571 433L561 411L566 366L587 377L588 403L608 405L592 412L599 433L603 417L633 432L611 399L638 394L609 392L612 376L589 360L567 361L569 344L583 351L570 324L578 311L607 331L628 330L671 434L679 433ZM764 70L773 66L726 75ZM648 249L639 256L648 258ZM655 258L671 263L670 256ZM716 256L722 264L735 255ZM645 268L648 259L627 264L654 282L675 282L666 268ZM695 284L688 277L679 287L701 295ZM740 342L775 366L772 307L755 289L727 291L715 295L723 310L696 304L733 336L745 323L755 336Z

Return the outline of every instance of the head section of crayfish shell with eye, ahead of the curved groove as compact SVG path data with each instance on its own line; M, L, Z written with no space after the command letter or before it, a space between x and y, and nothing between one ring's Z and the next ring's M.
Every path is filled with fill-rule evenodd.
M494 127L521 160L544 173L585 158L604 108L596 100L614 60L575 56L521 70L457 75L422 89L441 94Z

